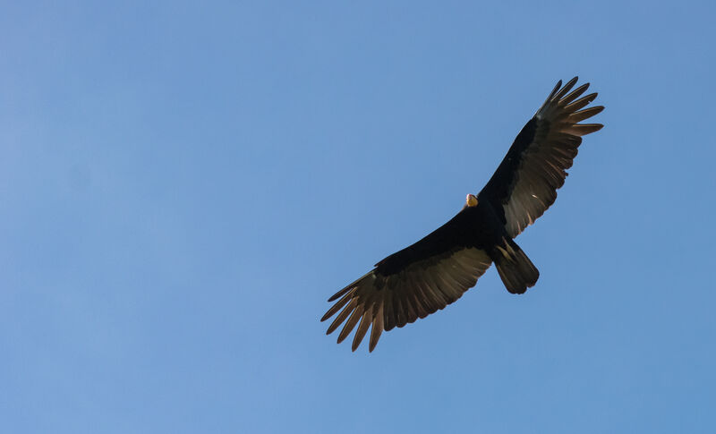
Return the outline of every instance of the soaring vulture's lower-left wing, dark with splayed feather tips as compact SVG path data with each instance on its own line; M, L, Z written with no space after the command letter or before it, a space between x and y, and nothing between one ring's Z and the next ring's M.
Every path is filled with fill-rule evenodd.
M337 302L320 320L340 313L326 334L345 322L338 335L340 344L358 325L352 346L355 351L372 325L372 352L383 330L401 328L460 298L491 263L486 251L461 243L463 221L462 213L458 214L330 297L328 302Z

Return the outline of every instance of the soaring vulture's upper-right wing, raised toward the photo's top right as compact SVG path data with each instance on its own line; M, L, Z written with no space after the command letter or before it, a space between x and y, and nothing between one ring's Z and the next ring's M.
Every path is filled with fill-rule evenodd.
M589 83L567 94L576 81L575 77L564 87L562 81L557 83L478 195L478 200L489 200L493 208L504 213L507 234L513 238L557 199L557 189L565 183L582 136L603 126L580 123L604 107L584 108L597 98L596 93L579 98Z

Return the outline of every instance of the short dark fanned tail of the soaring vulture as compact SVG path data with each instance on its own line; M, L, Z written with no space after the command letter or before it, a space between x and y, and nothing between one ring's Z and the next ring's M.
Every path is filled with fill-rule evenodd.
M498 268L499 277L507 291L524 294L527 288L537 283L540 272L517 243L507 238L502 241L503 244L495 246L492 252L492 260Z

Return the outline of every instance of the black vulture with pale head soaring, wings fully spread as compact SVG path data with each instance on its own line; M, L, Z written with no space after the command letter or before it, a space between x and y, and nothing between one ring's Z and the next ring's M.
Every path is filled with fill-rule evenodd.
M422 240L380 260L375 268L328 299L335 302L321 321L338 313L327 335L345 322L340 344L357 325L353 351L371 327L369 351L383 330L402 328L455 302L494 262L507 291L524 294L540 272L514 238L557 199L582 136L601 123L580 123L603 106L588 106L596 93L582 95L577 77L550 92L524 125L507 156L477 195L445 225ZM570 92L570 90L572 90ZM581 98L580 98L581 97Z

